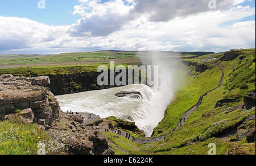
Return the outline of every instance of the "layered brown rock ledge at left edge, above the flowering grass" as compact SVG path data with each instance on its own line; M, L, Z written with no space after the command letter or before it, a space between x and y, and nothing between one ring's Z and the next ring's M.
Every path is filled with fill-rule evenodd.
M33 123L51 124L59 117L60 107L48 85L49 77L0 76L0 121L20 111Z

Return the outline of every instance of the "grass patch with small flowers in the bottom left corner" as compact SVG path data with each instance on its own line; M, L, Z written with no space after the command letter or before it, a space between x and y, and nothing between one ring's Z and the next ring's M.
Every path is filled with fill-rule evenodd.
M38 143L49 136L36 124L28 124L18 117L0 122L0 155L36 155Z

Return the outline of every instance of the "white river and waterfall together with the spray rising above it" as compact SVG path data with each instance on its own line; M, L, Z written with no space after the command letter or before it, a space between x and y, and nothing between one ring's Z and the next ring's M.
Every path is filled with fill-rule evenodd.
M179 79L175 77L177 69L173 62L176 60L155 59L152 65L159 65L159 88L152 90L147 85L135 84L118 88L94 90L76 94L56 96L61 110L86 112L100 115L101 118L114 116L124 121L135 122L138 128L150 137L154 128L162 121L166 108L174 99ZM178 78L182 78L178 74ZM134 94L117 97L116 93L141 92L143 98L131 98Z

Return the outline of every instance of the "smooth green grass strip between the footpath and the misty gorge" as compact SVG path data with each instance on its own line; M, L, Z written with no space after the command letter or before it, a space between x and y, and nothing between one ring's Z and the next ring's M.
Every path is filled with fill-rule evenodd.
M187 75L187 80L181 85L182 88L177 92L175 101L168 106L164 119L155 128L153 137L172 131L185 111L195 105L200 96L218 86L220 78L221 72L218 68L206 70L204 73L193 76Z

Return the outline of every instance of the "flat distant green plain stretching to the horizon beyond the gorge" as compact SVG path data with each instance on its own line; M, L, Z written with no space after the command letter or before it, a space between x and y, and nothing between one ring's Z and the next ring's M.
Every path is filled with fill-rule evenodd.
M35 68L35 67L64 67L90 64L108 63L110 60L116 64L140 65L142 59L152 55L164 58L196 57L197 53L180 52L125 52L125 51L96 51L60 53L55 55L17 54L0 55L0 68Z

